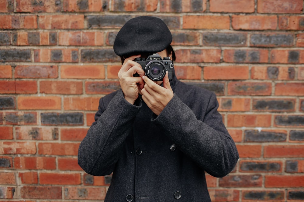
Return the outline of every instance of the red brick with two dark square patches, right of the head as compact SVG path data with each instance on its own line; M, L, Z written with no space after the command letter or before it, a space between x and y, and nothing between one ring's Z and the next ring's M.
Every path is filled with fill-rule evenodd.
M268 50L234 50L223 51L223 61L233 63L268 63Z

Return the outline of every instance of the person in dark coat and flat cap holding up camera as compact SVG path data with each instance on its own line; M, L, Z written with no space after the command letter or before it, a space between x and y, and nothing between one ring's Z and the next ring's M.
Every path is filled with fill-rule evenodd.
M88 174L112 174L108 201L209 202L205 172L229 174L239 158L216 95L179 81L167 25L151 16L120 29L121 89L100 98L78 150Z

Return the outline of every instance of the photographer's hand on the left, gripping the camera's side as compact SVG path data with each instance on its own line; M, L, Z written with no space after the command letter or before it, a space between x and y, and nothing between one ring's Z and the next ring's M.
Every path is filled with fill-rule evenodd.
M123 91L125 99L131 104L134 104L138 98L138 93L144 87L144 82L141 77L133 77L135 73L140 76L145 74L140 64L133 61L135 58L139 57L140 55L133 55L126 58L118 72L120 87Z

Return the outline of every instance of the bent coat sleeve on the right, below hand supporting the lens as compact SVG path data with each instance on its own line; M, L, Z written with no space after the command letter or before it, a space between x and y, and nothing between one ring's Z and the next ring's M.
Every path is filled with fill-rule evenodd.
M178 148L203 170L214 177L224 177L233 170L239 154L217 108L214 93L201 114L195 114L174 94L152 122L164 128Z

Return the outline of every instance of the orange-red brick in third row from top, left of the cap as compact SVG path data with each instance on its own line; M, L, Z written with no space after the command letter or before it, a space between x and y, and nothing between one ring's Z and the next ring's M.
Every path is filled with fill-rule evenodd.
M100 31L60 31L59 45L102 46L104 33Z

